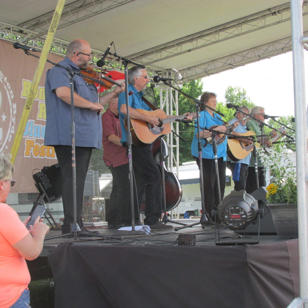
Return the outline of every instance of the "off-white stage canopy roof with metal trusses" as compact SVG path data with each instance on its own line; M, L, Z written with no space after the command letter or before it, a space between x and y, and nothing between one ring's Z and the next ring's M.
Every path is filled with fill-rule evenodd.
M2 0L2 39L13 41L12 35L18 35L25 43L44 42L56 3ZM305 2L306 36L307 15ZM187 82L290 51L290 3L67 0L53 46L61 54L74 38L87 39L99 57L113 41L118 55L144 64L155 74L176 69Z

